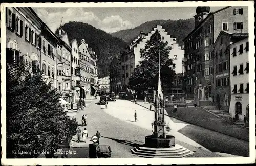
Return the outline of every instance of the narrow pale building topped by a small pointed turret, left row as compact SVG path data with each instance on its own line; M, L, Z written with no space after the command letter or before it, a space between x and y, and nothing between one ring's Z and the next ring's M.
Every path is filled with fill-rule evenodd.
M72 78L71 78L71 45L68 39L67 33L63 29L63 24L55 34L60 39L61 54L58 57L58 87L62 85L61 93L62 98L73 105L73 94L72 94ZM44 45L44 44L43 44ZM59 52L60 53L60 52Z

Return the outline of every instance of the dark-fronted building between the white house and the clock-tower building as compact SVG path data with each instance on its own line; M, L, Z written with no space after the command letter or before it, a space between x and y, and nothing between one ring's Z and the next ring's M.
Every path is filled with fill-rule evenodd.
M214 43L214 104L222 110L229 110L230 103L230 57L229 45L248 37L248 33L221 31ZM212 70L213 68L210 67ZM207 73L208 71L206 71Z

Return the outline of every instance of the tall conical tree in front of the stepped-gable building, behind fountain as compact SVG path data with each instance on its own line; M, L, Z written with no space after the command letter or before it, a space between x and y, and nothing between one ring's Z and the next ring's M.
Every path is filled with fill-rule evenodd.
M129 79L131 89L156 89L158 83L159 53L160 53L160 76L163 89L172 86L175 72L170 66L173 60L169 59L170 47L167 41L161 40L158 30L152 34L150 40L140 49L144 58L134 69L133 76Z

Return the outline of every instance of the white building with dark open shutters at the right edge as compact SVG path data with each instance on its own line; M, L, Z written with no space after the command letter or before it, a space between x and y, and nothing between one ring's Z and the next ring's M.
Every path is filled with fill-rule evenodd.
M229 113L240 119L249 117L249 42L248 36L229 45L231 99Z

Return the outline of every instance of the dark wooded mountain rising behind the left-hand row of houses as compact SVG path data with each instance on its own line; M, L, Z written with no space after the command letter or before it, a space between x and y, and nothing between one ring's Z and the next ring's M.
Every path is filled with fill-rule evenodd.
M76 39L79 42L85 39L88 46L98 56L97 66L99 78L109 75L109 65L114 56L120 57L127 45L123 40L113 37L102 30L99 30L88 23L68 22L63 29L68 34L69 41Z

